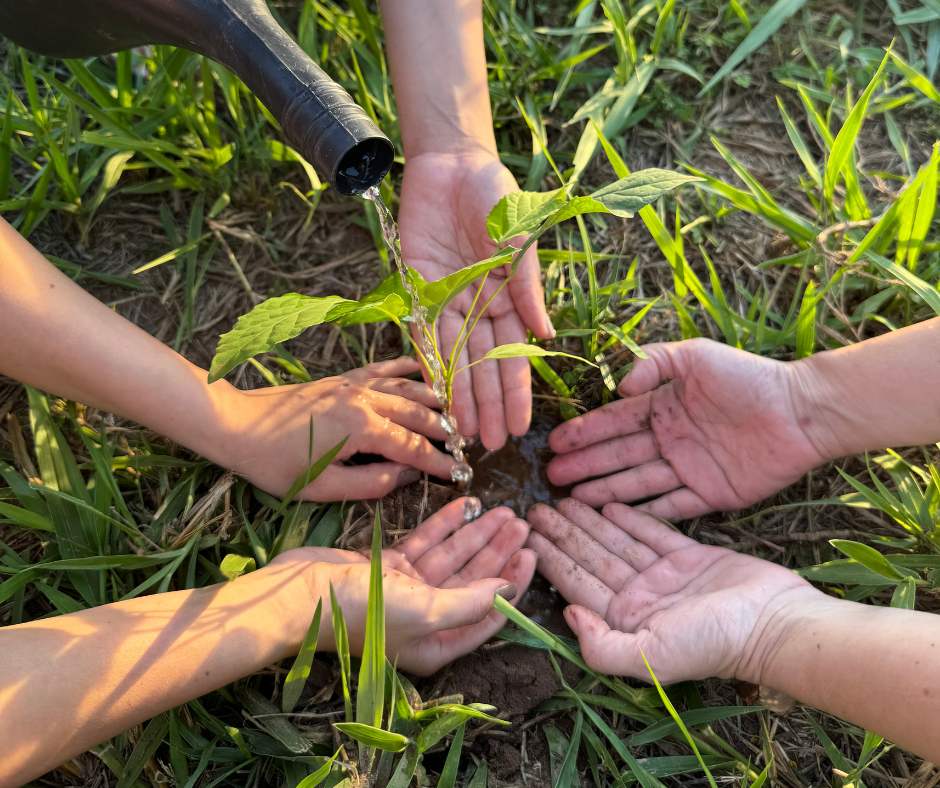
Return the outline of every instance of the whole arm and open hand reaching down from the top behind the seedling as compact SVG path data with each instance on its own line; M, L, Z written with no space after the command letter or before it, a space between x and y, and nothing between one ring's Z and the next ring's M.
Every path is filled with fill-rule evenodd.
M401 118L405 176L398 215L405 262L429 280L489 257L490 209L518 191L499 161L490 114L480 0L381 0L385 40ZM508 269L508 266L507 266ZM483 298L505 281L494 271ZM475 288L439 320L449 353ZM526 329L554 336L545 312L536 250L530 250L471 335L462 366L496 345L525 342ZM482 303L482 302L481 302ZM486 361L454 382L461 431L478 431L496 449L507 434L522 435L532 408L525 359Z

